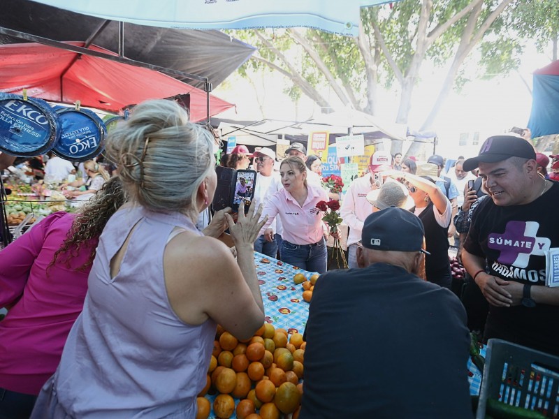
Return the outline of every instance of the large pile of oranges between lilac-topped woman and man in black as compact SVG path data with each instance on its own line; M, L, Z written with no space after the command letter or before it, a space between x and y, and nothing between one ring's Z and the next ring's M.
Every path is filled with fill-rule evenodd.
M198 415L210 415L206 393L217 394L215 416L227 419L279 419L293 413L297 419L303 395L303 335L288 335L264 323L247 341L238 341L221 326L217 328L205 388L198 395ZM235 399L240 402L235 408Z

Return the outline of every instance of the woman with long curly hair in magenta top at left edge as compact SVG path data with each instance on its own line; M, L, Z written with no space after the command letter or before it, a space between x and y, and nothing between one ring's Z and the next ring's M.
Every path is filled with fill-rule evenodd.
M29 417L82 311L103 227L125 195L106 182L78 214L55 212L0 251L0 417Z

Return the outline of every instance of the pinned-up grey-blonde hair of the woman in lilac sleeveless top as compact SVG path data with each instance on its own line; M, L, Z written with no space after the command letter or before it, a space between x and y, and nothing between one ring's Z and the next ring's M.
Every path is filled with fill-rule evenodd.
M214 169L212 135L166 100L145 101L109 133L106 150L131 200L196 221L198 186Z

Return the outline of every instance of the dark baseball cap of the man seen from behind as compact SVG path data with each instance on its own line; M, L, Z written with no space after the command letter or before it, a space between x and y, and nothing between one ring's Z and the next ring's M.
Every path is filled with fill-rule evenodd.
M402 208L388 207L373 212L363 223L361 243L373 250L421 251L423 246L423 223L412 212Z

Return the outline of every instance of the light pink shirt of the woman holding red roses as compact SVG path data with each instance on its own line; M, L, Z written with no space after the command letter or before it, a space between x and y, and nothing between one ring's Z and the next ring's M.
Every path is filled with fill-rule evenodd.
M321 200L328 202L328 195L319 186L307 184L307 199L303 206L282 189L277 191L264 204L262 218L268 214L268 221L260 230L260 234L268 228L276 217L282 221L283 240L293 244L312 244L321 240L324 233L322 217L324 213L317 208Z

